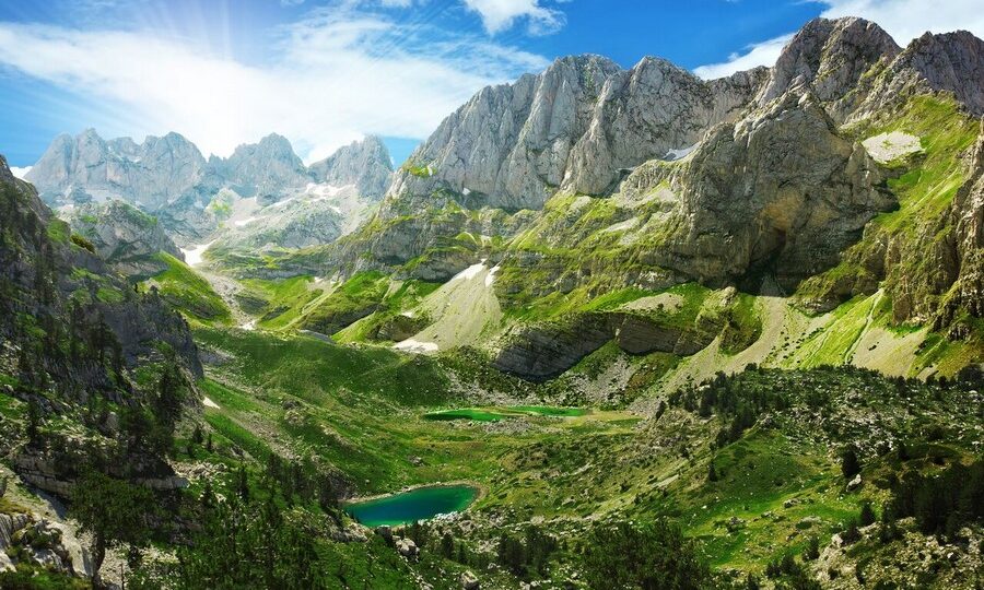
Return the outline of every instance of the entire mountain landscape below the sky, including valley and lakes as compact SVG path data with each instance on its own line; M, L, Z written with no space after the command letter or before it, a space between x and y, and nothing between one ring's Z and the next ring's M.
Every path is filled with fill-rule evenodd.
M980 585L968 32L564 57L396 169L87 130L0 188L0 582Z

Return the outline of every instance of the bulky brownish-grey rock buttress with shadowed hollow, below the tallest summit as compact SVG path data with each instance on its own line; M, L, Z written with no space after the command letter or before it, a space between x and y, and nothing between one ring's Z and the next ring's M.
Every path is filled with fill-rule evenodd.
M711 131L671 180L677 223L658 263L715 286L753 271L792 290L837 263L878 212L895 205L877 164L842 138L816 96L787 91Z

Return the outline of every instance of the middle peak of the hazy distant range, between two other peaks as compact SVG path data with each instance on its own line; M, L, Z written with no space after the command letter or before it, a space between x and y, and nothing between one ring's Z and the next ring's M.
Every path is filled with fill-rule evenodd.
M311 181L291 142L277 133L259 143L239 145L227 160L212 166L244 197L277 194Z

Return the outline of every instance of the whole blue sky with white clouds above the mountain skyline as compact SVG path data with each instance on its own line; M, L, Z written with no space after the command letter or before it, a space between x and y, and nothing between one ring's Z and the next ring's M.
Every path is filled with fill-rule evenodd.
M771 64L818 15L904 45L984 33L980 0L0 0L0 153L60 132L177 131L208 155L269 132L307 162L376 133L399 163L485 84L600 54L713 78Z

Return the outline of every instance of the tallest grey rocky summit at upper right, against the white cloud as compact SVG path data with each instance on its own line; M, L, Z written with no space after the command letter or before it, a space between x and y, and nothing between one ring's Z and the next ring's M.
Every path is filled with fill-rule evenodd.
M759 104L804 82L819 99L840 101L875 63L891 60L900 50L885 30L864 19L815 19L783 48Z

